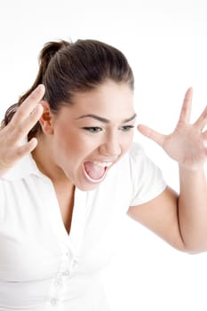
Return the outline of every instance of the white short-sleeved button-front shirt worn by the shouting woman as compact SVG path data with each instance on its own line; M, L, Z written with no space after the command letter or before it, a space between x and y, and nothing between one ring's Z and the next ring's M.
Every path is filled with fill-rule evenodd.
M100 272L129 206L166 187L134 143L95 190L76 189L68 235L52 181L24 157L0 179L0 311L107 311ZM139 208L139 207L138 207Z

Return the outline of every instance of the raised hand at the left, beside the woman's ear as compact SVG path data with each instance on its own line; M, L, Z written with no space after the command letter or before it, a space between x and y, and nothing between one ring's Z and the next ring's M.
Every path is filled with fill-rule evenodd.
M40 101L44 96L44 85L40 84L20 105L12 120L0 131L0 176L8 171L22 156L36 148L33 138L22 145L28 132L43 114Z

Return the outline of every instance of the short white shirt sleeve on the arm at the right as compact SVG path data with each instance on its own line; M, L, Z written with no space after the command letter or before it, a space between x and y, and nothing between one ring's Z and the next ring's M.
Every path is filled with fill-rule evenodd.
M160 195L166 187L162 171L145 154L141 145L135 143L131 148L131 206L147 203Z

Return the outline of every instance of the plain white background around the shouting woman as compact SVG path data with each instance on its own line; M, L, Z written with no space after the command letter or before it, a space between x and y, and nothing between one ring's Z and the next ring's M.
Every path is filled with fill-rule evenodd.
M205 0L1 0L0 35L0 116L33 83L43 44L56 39L94 38L121 49L135 74L138 121L157 131L171 132L188 86L192 120L207 104ZM176 163L140 134L135 140L179 190ZM122 225L105 273L112 311L206 311L207 253L176 251L131 219Z

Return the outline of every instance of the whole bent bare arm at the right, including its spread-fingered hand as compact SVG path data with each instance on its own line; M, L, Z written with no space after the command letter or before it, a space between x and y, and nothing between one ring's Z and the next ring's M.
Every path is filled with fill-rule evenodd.
M179 164L180 192L170 187L143 206L131 207L129 215L182 251L207 251L207 183L204 163L207 158L207 108L189 123L193 90L187 90L179 122L170 135L163 135L146 125L139 132L154 140ZM140 208L140 209L139 209Z

